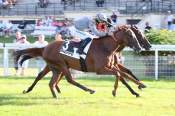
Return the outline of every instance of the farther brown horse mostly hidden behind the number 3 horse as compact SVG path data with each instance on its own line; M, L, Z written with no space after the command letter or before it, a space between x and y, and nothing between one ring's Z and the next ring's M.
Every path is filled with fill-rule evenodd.
M128 28L128 26L127 26L127 28ZM139 43L140 43L140 45L145 49L145 50L149 50L150 48L151 48L151 45L150 45L150 43L149 43L149 41L146 39L146 37L144 36L144 34L136 27L136 26L131 26L130 27L131 29L132 29L132 31L135 33L135 35L136 35L136 37L137 37L137 39L138 39L138 41L139 41ZM59 35L56 35L56 40L57 41L62 41L62 39L59 37ZM117 66L118 65L118 67L120 68L120 70L121 71L123 71L123 72L125 72L125 73L128 73L129 75L131 75L133 78L135 78L136 80L138 80L137 79L137 77L135 77L135 75L129 70L129 69L127 69L127 68L125 68L123 65L121 65L120 63L118 63L118 56L117 56L117 54L118 53L116 53L115 54L115 56L114 56L114 59L115 59L115 65ZM27 57L23 57L23 60L22 60L22 62L24 61L24 60L26 60L26 58ZM28 58L30 58L30 57L28 57ZM22 64L22 62L21 62L21 64ZM24 90L24 92L23 93L28 93L28 92L30 92L30 91L32 91L33 90L33 88L35 87L35 85L37 84L37 82L40 80L40 79L42 79L48 72L50 72L50 69L49 69L49 66L47 65L44 69L43 69L43 71L41 71L39 74L38 74L38 76L36 77L36 79L34 80L34 82L32 83L32 85L27 89L27 91L25 91ZM58 84L58 82L62 79L62 77L63 77L63 74L61 73L59 76L58 76L58 79L55 79L55 80L57 80L57 84ZM118 87L118 79L120 79L120 81L129 89L129 91L133 94L133 95L136 95L136 96L139 96L139 94L138 93L136 93L129 85L128 85L128 83L124 80L124 78L122 78L119 74L118 74L118 77L119 78L117 78L116 79L116 84L115 84L115 86L114 86L114 90L113 90L113 96L115 96L116 95L116 89L117 89L117 87ZM138 80L139 81L139 80ZM52 82L52 80L51 80L51 82ZM58 85L57 84L55 84L55 88L56 88L56 90L60 93L61 91L60 91L60 89L59 89L59 87L58 87ZM51 87L51 85L50 85L50 87ZM139 88L139 89L141 89L141 88Z

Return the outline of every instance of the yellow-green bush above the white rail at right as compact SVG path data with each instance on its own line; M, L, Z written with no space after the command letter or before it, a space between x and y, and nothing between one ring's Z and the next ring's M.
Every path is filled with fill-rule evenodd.
M168 30L150 30L146 37L151 44L175 44L175 32Z

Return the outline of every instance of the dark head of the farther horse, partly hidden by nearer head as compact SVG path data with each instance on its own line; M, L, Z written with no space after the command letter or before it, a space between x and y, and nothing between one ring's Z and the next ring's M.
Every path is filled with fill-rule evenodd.
M145 50L150 50L151 44L146 39L146 36L144 35L144 33L141 32L136 26L131 26L131 30L135 33L141 47L143 47Z

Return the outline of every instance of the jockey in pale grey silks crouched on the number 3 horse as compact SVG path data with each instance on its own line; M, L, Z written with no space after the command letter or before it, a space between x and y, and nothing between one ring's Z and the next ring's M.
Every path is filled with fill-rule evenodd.
M99 24L103 30L98 28ZM83 54L83 50L86 45L92 41L93 35L98 36L96 38L108 35L109 28L111 27L111 21L106 15L99 13L95 18L84 16L74 20L74 26L69 27L70 35L73 37L80 38L81 44L79 48L79 53ZM85 32L88 30L90 33Z

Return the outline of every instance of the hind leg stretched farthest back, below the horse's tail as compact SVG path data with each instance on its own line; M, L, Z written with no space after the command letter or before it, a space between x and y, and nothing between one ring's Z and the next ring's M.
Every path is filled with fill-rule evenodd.
M33 88L35 87L35 85L38 83L39 80L41 80L48 72L50 71L48 65L38 74L38 76L35 78L34 82L32 83L32 85L27 89L24 90L23 93L29 93L30 91L33 90Z

